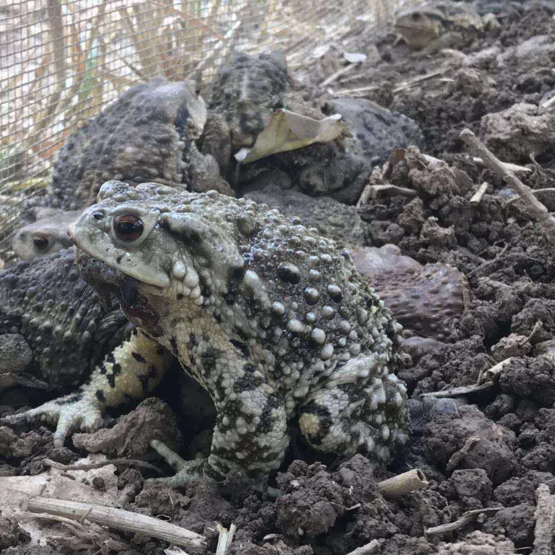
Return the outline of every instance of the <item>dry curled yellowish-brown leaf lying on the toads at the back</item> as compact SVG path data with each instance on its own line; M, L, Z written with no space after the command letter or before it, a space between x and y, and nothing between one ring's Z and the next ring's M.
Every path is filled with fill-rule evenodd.
M258 135L254 147L248 153L246 149L239 150L235 159L241 164L249 164L270 154L307 147L312 143L327 143L339 137L352 137L340 114L317 120L280 109L274 112L266 129Z

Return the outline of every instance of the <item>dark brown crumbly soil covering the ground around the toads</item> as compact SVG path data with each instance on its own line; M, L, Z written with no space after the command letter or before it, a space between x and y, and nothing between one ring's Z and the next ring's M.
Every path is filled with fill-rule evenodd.
M529 171L519 176L531 188L555 186L555 115L521 107L503 116L505 127L488 115L517 103L537 107L555 94L555 21L548 11L534 9L501 23L497 36L480 38L462 53L422 59L410 58L402 44L394 46L393 34L364 34L331 48L297 75L306 97L315 102L338 90L365 88L355 94L415 119L425 135L425 153L448 164L434 178L413 153L412 169L398 164L391 183L416 189L418 195L411 200L398 194L379 196L360 209L369 224L369 245L396 243L402 254L421 264L455 266L470 284L468 306L451 342L426 347L401 371L410 396L472 386L482 372L512 357L498 381L461 397L455 411L424 422L387 471L373 472L361 455L347 461L324 459L294 440L272 483L280 490L277 498L253 490L239 473L230 475L223 487L199 482L181 492L149 481L158 475L134 466L105 466L90 471L93 475L44 473L46 458L63 464L87 453L98 453L95 460L103 460L102 455L144 458L152 437L173 442L184 457L203 452L209 441L203 430L210 429L214 415L202 392L189 392L184 399L180 391L190 384L177 372L158 390L164 401L143 401L128 415L109 419L108 430L76 434L72 448L53 449L51 431L44 427L18 437L0 428L0 476L13 480L14 491L22 480L37 480L37 492L65 490L65 495L73 492L73 498L90 496L162 516L204 534L208 549L197 555L215 552L215 522L236 525L232 555L346 555L373 539L378 546L372 553L380 555L531 552L536 488L546 483L555 493L555 358L549 357L555 343L546 343L555 341L553 247L521 201L506 204L511 194L506 185L464 154L458 135L470 127L504 162L527 166ZM364 52L367 61L321 91L317 85L344 63L343 51ZM410 84L431 73L436 75ZM542 125L547 131L534 135ZM457 184L451 179L453 168L470 180ZM471 203L483 181L489 184L486 194ZM555 210L553 191L538 198ZM539 330L537 322L542 324ZM176 382L183 389L176 388ZM472 436L479 441L453 464L453 453ZM173 473L158 458L151 462L166 476ZM411 468L420 468L429 485L386 501L377 482ZM16 497L14 504L21 501ZM425 534L428 528L482 508L499 510L456 531ZM49 535L66 539L37 544L36 534L28 529L27 522L0 515L0 552L180 552L130 532L113 531L111 540L99 532L93 539L70 541L62 524ZM110 543L114 538L120 543Z

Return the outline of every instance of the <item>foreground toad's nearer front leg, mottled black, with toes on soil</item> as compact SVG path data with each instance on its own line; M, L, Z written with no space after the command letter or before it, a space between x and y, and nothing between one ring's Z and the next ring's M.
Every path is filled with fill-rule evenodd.
M194 351L187 362L197 362L200 374L196 377L204 382L217 412L210 455L202 467L204 476L222 481L230 470L244 470L256 481L264 480L279 468L289 446L284 398L235 346L207 347L198 357L200 351L196 347ZM191 371L188 365L184 367ZM166 480L171 485L186 486L198 480L199 461L184 461L165 447L160 450L159 444L153 447L177 472Z

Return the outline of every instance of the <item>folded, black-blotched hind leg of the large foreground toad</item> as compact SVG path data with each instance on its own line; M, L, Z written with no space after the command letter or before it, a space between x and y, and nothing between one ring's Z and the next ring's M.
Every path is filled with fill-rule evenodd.
M351 359L300 408L301 432L315 449L341 455L362 451L383 463L392 447L407 440L406 387L387 370L369 377L372 359Z

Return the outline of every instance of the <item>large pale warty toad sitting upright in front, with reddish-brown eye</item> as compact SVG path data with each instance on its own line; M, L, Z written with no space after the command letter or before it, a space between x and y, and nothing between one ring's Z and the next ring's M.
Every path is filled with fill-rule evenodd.
M213 399L205 475L267 476L297 417L316 449L375 463L406 441L406 388L393 374L401 326L333 241L215 191L110 181L98 200L72 241L128 276L124 313ZM129 218L140 222L132 239L119 224Z

